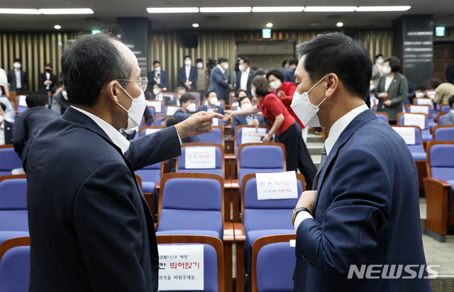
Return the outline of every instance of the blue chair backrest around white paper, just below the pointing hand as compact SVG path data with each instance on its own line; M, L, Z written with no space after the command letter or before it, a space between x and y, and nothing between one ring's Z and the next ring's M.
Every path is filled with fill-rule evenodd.
M215 147L216 167L214 169L187 169L186 168L186 150L188 147ZM182 155L177 157L177 166L175 172L199 172L202 174L218 174L225 177L224 147L218 143L184 143L182 145Z

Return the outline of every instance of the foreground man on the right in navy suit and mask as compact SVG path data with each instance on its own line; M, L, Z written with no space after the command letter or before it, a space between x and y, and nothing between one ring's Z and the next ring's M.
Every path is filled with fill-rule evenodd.
M329 33L297 50L297 93L309 99L295 96L292 108L329 135L317 191L302 193L292 216L294 291L431 291L416 165L402 137L365 105L372 77L365 45ZM311 104L319 111L307 111Z

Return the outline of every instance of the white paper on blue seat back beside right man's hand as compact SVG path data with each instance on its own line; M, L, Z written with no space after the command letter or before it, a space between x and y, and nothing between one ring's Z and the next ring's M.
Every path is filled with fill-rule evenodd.
M298 198L297 174L294 171L258 173L255 174L255 178L258 200Z

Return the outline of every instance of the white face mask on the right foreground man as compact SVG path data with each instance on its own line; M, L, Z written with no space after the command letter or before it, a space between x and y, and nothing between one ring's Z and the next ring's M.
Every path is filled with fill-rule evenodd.
M325 77L326 76L328 76L328 74L326 74ZM321 103L323 103L323 101L326 101L326 98L323 99L323 101L321 101L318 106L314 106L311 101L309 101L309 92L311 92L311 90L314 89L315 86L317 86L323 79L325 79L325 77L320 79L320 81L312 86L309 91L305 91L303 92L303 94L299 94L298 91L295 91L293 95L293 100L290 107L297 115L299 120L301 120L301 123L304 125L304 127L320 127L320 120L319 116L317 116L317 113L319 112L319 106L321 105Z

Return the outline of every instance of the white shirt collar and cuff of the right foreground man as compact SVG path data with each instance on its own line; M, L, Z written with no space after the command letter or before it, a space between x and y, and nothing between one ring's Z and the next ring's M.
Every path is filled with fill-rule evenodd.
M365 104L358 106L358 108L353 108L353 110L346 113L342 118L336 120L336 123L333 123L331 129L329 130L328 138L325 141L325 150L326 155L329 157L329 153L333 149L334 144L336 144L339 136L341 136L343 130L351 123L351 121L356 118L360 113L369 109ZM327 157L327 159L328 159ZM309 212L299 212L297 218L295 218L295 231L298 230L299 224L307 218L312 218Z

